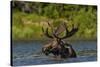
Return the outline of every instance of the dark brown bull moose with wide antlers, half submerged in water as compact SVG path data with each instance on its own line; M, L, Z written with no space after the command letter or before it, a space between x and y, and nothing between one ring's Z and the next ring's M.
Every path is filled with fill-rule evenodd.
M51 27L51 25L48 23L48 25ZM63 27L65 28L65 36L59 37L57 34L58 29L52 29L52 35L48 32L48 27L44 30L42 28L42 31L45 36L48 38L51 38L53 41L44 45L42 48L42 52L48 56L49 54L53 54L55 57L60 56L60 58L75 58L77 57L75 50L73 47L68 44L67 42L64 42L63 39L69 38L72 35L74 35L78 31L78 27L75 27L72 25L71 31L68 30L66 23L63 23ZM61 32L62 33L62 32Z

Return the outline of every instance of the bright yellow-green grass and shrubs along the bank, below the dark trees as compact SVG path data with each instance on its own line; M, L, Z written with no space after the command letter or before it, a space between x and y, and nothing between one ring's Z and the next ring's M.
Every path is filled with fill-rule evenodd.
M90 18L90 19L89 19ZM34 13L27 14L20 11L13 11L12 13L12 38L13 40L42 40L45 39L41 27L45 27L43 23L47 20L54 20L54 25L59 24L59 19L49 19L46 16L40 16ZM80 11L70 24L80 24L79 31L69 39L72 40L94 40L97 37L96 19L89 12L84 14L84 10ZM62 19L66 20L66 18ZM67 20L66 20L67 21ZM69 25L70 25L69 24ZM69 26L70 28L70 26ZM70 28L71 29L71 28Z

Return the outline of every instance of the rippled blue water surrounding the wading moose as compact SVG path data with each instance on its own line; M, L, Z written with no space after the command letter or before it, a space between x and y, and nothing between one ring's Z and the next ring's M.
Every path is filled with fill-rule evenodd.
M57 64L57 63L72 63L86 62L97 60L97 42L96 41L78 41L71 42L77 53L77 58L67 58L55 60L51 56L45 56L41 52L43 42L13 42L12 44L12 63L13 66L24 65L40 65L40 64Z

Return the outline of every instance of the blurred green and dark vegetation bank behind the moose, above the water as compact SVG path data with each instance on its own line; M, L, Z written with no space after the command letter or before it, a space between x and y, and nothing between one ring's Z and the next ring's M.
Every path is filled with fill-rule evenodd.
M63 21L79 24L79 31L69 40L96 40L97 6L59 3L12 1L12 39L42 40L42 26L47 21L58 25Z

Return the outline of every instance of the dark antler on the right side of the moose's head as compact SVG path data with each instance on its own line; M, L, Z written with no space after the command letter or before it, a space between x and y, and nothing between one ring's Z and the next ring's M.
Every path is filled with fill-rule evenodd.
M77 31L78 31L78 27L74 27L74 25L72 25L72 30L71 31L69 31L68 29L67 29L67 26L66 26L66 23L64 23L64 27L65 27L65 29L66 29L66 35L64 36L64 37L58 37L56 34L54 34L54 36L56 37L56 38L59 38L59 39L65 39L65 38L68 38L68 37L71 37L72 35L74 35Z

